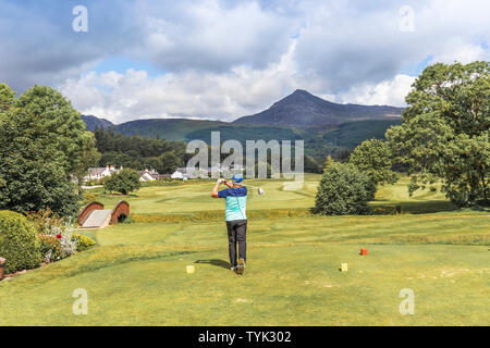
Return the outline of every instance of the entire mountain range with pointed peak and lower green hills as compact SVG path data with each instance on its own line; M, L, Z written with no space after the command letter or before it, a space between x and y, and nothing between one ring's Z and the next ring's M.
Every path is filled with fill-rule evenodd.
M148 119L113 124L94 115L82 115L87 129L112 129L122 135L159 137L210 144L212 130L221 141L304 139L306 152L323 156L338 148L353 149L368 138L382 138L392 125L401 123L403 108L388 105L339 104L297 89L269 109L233 122L189 119Z

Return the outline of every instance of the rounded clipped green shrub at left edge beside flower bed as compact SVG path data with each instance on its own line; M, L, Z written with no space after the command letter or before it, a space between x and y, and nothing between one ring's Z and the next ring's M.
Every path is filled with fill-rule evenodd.
M20 213L0 211L0 257L7 259L7 274L34 269L41 262L36 229Z

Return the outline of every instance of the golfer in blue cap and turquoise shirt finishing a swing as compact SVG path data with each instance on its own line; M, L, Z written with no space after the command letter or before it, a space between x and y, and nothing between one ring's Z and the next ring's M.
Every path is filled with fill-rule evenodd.
M247 251L246 232L247 216L245 210L247 207L247 188L243 186L243 176L241 174L233 175L232 183L228 183L224 178L218 179L212 189L212 198L225 198L225 221L228 228L228 247L230 252L231 270L237 274L245 271L245 260ZM221 184L228 188L218 191ZM238 243L238 262L236 262L236 243Z

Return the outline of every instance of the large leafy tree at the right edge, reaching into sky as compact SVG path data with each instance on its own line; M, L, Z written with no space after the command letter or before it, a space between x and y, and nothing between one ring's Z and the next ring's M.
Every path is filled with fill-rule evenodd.
M413 175L409 191L442 181L460 207L489 200L490 62L428 66L406 97L403 124L387 132Z

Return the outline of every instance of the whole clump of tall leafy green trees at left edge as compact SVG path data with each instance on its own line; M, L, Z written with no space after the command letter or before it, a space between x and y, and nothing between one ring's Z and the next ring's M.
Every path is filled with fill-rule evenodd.
M70 101L50 87L35 86L16 100L8 87L0 89L1 104L9 105L0 111L0 209L49 207L73 215L79 197L72 176L97 157L93 135Z

